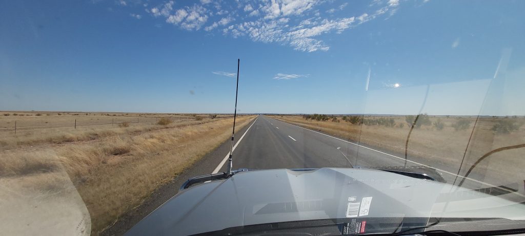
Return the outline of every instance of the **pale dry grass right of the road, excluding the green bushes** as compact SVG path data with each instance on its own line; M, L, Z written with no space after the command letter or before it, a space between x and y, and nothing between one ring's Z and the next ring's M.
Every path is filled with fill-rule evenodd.
M380 147L400 156L404 156L405 142L410 130L404 116L394 116L396 127L352 125L343 121L339 123L306 121L301 116L291 115L273 117L354 142ZM465 153L475 118L463 119L471 120L470 127L463 131L455 131L452 127L460 120L457 117L441 117L440 120L445 126L443 130L436 130L434 126L414 128L408 144L408 159L415 162L434 163L438 165L438 168L447 168L446 170L454 173L458 171L463 155L465 155L465 162L460 171L460 174L465 174L481 156L493 149L525 143L523 127L510 134L499 134L493 132L491 128L503 118L482 117L478 120L468 151ZM433 117L430 120L435 122L437 118ZM522 122L522 120L523 118L517 118L516 122ZM404 127L399 127L399 124L403 123ZM476 167L478 180L495 185L522 181L525 179L525 173L522 170L525 167L524 154L525 149L520 148L491 155Z

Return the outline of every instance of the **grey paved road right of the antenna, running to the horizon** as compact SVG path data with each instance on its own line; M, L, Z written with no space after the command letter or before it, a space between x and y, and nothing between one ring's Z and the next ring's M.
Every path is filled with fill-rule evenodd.
M237 137L238 138L238 135ZM234 168L321 168L404 166L405 159L387 151L355 145L317 131L260 115L234 151ZM418 160L419 161L419 160ZM438 168L447 183L453 183L457 169L439 163L408 162L407 166L427 165ZM226 165L217 171L226 171ZM461 178L459 178L461 180ZM491 187L467 179L467 188Z

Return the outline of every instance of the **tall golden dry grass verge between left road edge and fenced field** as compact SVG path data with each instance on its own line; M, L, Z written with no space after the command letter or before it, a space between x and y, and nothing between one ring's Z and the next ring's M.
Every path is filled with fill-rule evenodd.
M254 116L238 117L238 127L253 119ZM64 168L85 202L92 232L97 234L122 213L140 205L158 186L227 140L232 121L189 121L161 130L129 127L126 132L99 136L90 142L3 151L0 178L35 176L44 181ZM50 183L48 188L54 188L53 181L45 182Z

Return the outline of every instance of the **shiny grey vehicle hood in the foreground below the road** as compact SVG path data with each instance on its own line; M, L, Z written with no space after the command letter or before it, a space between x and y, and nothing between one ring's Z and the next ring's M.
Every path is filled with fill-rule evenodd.
M374 169L239 172L179 192L127 235L190 235L316 219L428 218L437 200L454 198L444 197L450 186Z

